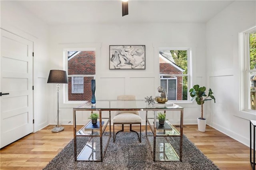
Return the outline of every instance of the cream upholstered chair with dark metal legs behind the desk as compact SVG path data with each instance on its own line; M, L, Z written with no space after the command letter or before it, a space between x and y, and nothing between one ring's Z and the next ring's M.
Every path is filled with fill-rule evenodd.
M136 107L136 96L134 95L120 95L117 97L117 104L122 105L121 107ZM138 124L140 125L140 134L138 132L132 130L132 125ZM116 132L115 134L115 125L122 125L122 130L118 132L124 131L124 125L130 125L130 131L136 132L138 134L139 140L141 142L141 117L139 111L115 111L115 115L113 118L113 141L116 140Z

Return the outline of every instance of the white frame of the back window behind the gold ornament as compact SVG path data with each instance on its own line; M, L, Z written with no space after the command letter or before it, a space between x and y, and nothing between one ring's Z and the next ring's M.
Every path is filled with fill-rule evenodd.
M158 51L157 51L157 53L158 53L157 56L159 56L159 51L166 51L166 50L186 50L187 51L187 56L188 56L188 73L187 74L170 74L170 75L168 74L168 76L175 76L175 77L185 77L185 76L188 76L188 92L187 92L188 99L187 100L176 100L175 102L177 102L177 103L188 103L188 102L191 103L191 101L190 101L191 97L190 97L189 89L192 88L192 72L193 72L192 71L192 49L195 49L193 47L194 45L189 45L190 47L184 47L184 46L183 47L175 47L176 45L168 45L168 46L170 46L170 47L159 47ZM171 46L173 46L173 47L171 47ZM159 85L160 85L159 61L158 61L157 64L158 64L158 77L159 77Z

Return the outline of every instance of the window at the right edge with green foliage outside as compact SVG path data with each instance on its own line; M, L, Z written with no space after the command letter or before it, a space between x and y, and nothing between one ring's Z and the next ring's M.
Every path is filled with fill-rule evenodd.
M240 33L240 97L240 110L255 116L256 26Z

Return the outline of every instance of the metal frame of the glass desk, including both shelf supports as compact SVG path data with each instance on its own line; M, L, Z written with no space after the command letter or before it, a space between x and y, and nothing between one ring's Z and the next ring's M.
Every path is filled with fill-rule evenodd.
M110 106L110 105L109 105ZM77 135L77 128L76 128L76 111L99 111L99 116L100 116L100 128L98 129L100 131L100 135ZM102 111L109 111L109 117L108 118L102 118ZM146 111L146 138L148 141L148 144L150 145L150 141L148 139L148 135L147 135L147 125L149 123L148 119L148 111L154 111L154 128L152 128L152 126L150 125L150 129L154 134L154 147L153 149L150 147L150 150L152 152L152 156L153 156L153 160L156 161L156 137L159 136L156 134L156 111L180 111L180 135L178 135L180 137L180 153L179 153L179 160L182 161L182 137L183 137L183 107L180 107L176 104L173 104L173 106L170 107L164 107L164 108L159 108L159 107L128 107L128 108L124 108L124 107L96 107L96 106L92 106L91 103L83 103L81 105L79 105L78 107L74 107L73 108L73 120L74 120L74 157L75 157L75 161L77 161L77 136L90 136L91 138L93 137L100 137L100 160L94 160L94 161L103 161L104 155L106 153L106 149L108 147L108 142L111 138L111 111ZM106 124L104 124L104 126L102 126L102 119L107 119ZM87 124L86 124L87 125ZM86 126L85 125L85 126ZM109 129L110 129L110 134L108 135L108 141L106 144L106 148L104 149L104 151L102 150L102 135L106 129L106 127L109 125ZM84 126L84 127L85 127ZM83 127L83 128L84 128ZM81 128L82 129L82 128ZM81 130L80 129L80 130ZM166 136L172 136L172 135L166 135ZM177 136L177 135L176 135ZM88 159L83 159L83 161L88 161ZM92 160L89 160L92 161Z

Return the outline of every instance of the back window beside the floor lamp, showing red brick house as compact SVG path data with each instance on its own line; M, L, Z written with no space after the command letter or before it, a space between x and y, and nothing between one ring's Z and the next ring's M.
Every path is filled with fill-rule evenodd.
M95 79L96 51L89 49L64 51L68 73L67 101L90 101L92 97L91 80Z

